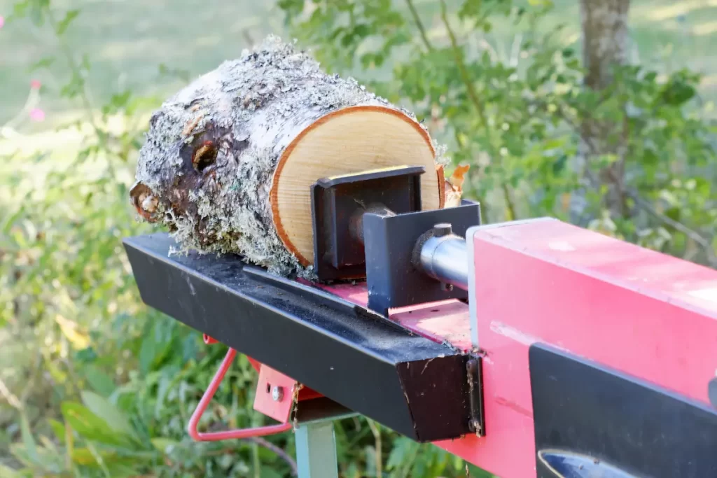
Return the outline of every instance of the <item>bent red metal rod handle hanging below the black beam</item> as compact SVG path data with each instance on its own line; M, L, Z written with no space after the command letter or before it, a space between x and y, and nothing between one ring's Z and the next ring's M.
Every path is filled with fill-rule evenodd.
M208 335L204 335L204 342L212 343L209 340L214 340L214 339L209 338L209 340L207 340L208 337L209 337ZM216 340L214 340L214 342L216 342ZM207 388L206 391L204 392L204 395L201 396L201 400L199 401L199 404L196 406L196 410L194 411L194 414L191 414L191 418L189 419L189 425L187 426L187 431L189 432L189 436L191 436L192 439L194 439L196 441L219 441L219 440L242 439L242 438L250 438L252 436L274 435L277 433L282 433L282 431L288 431L291 429L292 424L277 424L277 425L259 426L257 428L253 428L253 429L214 431L212 433L199 433L199 431L197 431L196 426L199 424L199 419L201 419L201 416L204 414L206 407L209 406L209 402L212 401L212 397L214 397L214 393L216 393L217 388L219 388L219 383L222 383L222 379L224 378L224 375L226 375L227 370L229 370L229 366L232 365L232 362L234 361L234 358L236 356L237 356L237 350L234 350L233 348L229 348L229 351L227 352L227 356L224 357L224 360L222 360L222 365L219 366L219 370L217 371L217 373L214 374L214 378L212 378L212 381L209 383L209 388Z

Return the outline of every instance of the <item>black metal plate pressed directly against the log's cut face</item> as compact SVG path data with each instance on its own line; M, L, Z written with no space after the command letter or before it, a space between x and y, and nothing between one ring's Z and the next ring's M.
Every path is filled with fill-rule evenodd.
M314 271L323 281L366 277L363 215L421 210L423 166L322 178L311 186Z

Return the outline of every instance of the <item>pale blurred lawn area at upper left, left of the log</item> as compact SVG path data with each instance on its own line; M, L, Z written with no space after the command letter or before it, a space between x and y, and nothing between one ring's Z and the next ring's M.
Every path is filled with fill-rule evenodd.
M13 4L0 0L0 15L9 16ZM273 2L264 1L53 0L52 4L61 11L80 9L65 35L75 53L87 54L92 62L87 84L96 104L126 88L138 95L164 97L184 80L161 75L160 64L196 77L224 59L239 56L252 40L282 29L280 12ZM22 107L33 78L46 89L42 107L47 111L47 127L74 116L77 105L57 95L67 80L62 57L47 71L32 71L32 65L57 54L54 38L28 28L27 20L8 21L0 30L0 47L0 124Z

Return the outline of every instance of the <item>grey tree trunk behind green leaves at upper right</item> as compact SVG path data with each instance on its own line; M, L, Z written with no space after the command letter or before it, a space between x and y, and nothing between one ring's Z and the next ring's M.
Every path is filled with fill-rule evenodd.
M630 0L581 0L583 63L587 70L584 86L595 91L612 83L615 65L627 61L627 29ZM607 186L604 206L613 215L625 214L625 145L620 130L623 125L585 118L581 124L579 168L587 173L591 158L614 155L617 161L603 168L591 186Z

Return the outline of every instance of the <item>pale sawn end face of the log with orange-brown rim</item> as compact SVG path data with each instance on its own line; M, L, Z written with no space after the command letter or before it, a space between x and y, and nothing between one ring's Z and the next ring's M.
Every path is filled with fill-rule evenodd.
M272 181L270 201L277 233L304 267L313 264L310 187L320 178L376 168L424 166L422 209L442 207L442 183L426 131L390 107L337 110L303 130L284 150Z

